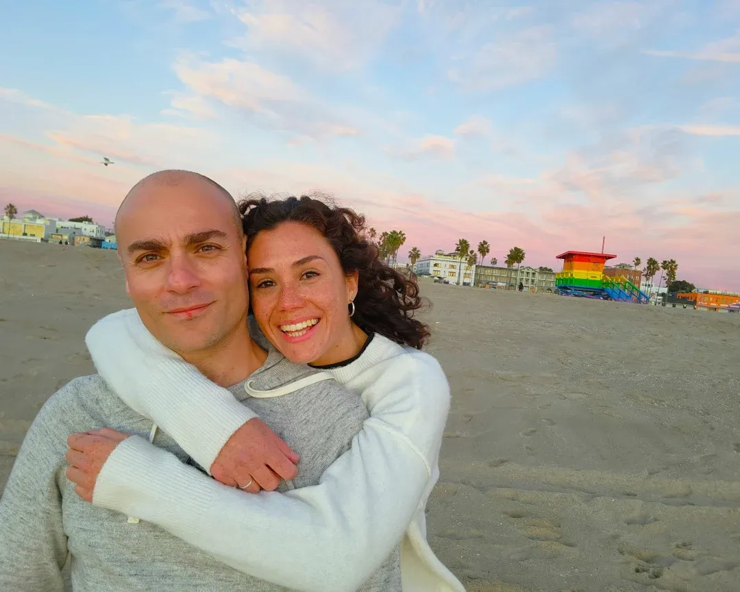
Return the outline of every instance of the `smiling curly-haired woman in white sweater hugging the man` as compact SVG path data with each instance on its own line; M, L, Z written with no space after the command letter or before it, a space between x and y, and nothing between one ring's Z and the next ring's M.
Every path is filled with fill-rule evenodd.
M266 338L292 362L316 369L309 380L337 380L360 394L370 417L319 485L245 495L238 507L209 511L209 528L218 537L203 539L197 526L201 517L186 515L193 507L187 489L175 497L172 492L163 497L156 488L132 491L137 502L127 508L140 509L137 515L150 517L245 573L254 567L250 548L270 545L274 565L260 568L269 567L275 571L273 581L291 582L294 588L296 574L305 574L298 588L303 591L357 590L400 544L404 592L464 592L426 541L425 504L439 477L450 393L437 360L420 351L430 331L414 318L423 306L417 283L380 259L377 246L366 238L363 216L351 209L303 195L248 196L239 210L247 237L253 337L269 347ZM211 405L214 383L172 356L118 357L110 346L112 334L116 345L123 344L127 351L151 352L141 343L153 339L130 327L119 329L110 323L105 329L94 326L87 344L98 371L125 403L138 409L147 407L147 400L157 400L156 406L147 407L148 417L203 467L218 463L218 457L203 454L213 450L214 441L249 450L249 442L235 442L239 431L234 425L243 418L243 403L235 401L228 412L225 406L210 409L221 414L222 428L217 434L202 434L198 410ZM101 371L112 365L115 376ZM127 387L125 377L132 372L138 373L138 385L144 372L151 388L141 391L133 383ZM223 397L233 398L221 390ZM287 392L286 386L257 391L249 382L246 390L252 397ZM213 476L226 485L247 483L241 488L251 493L260 491L260 485L275 489L274 482L256 474L253 464L230 466L229 471L218 471L218 477L212 471ZM152 511L173 505L178 511ZM272 520L271 532L256 533L250 517L259 517L261 525ZM300 549L306 545L320 547L324 565L304 565Z

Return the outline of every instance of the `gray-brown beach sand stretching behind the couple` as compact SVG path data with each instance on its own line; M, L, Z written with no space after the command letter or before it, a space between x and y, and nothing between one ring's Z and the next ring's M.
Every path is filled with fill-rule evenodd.
M740 590L740 314L441 286L428 539L468 592ZM0 240L0 487L131 306L114 252Z

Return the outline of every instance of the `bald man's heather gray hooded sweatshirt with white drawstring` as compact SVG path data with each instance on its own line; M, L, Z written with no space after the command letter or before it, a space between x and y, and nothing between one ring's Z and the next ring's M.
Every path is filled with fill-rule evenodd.
M249 380L254 388L266 390L312 372L272 349ZM248 398L244 383L230 390L240 401ZM333 380L281 397L249 398L249 408L300 454L298 476L281 482L281 491L316 485L368 417L361 398ZM62 568L68 555L75 592L287 590L223 565L155 525L129 523L123 514L78 497L64 475L67 437L103 427L148 437L152 424L122 403L97 374L73 380L39 411L0 500L0 591L64 591ZM154 444L189 462L161 431ZM401 591L398 548L360 590Z

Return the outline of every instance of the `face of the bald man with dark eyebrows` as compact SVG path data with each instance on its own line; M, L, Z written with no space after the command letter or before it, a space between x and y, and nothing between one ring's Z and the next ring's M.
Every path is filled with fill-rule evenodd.
M184 357L246 327L246 239L228 199L198 178L149 184L116 221L128 295L149 332Z

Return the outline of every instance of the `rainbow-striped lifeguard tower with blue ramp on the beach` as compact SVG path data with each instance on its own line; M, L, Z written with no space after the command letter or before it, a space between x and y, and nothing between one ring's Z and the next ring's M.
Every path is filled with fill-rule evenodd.
M647 304L650 298L624 276L604 275L604 264L616 258L608 253L566 251L562 272L555 274L555 287L562 294Z

